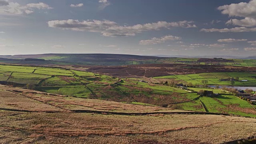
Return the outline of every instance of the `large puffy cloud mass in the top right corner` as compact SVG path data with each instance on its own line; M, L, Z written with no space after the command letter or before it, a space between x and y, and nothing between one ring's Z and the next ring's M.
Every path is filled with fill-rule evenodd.
M230 4L218 7L218 10L222 11L222 14L228 14L228 16L243 17L244 19L231 19L226 24L232 24L237 26L256 26L256 0L250 2L240 2L238 4Z

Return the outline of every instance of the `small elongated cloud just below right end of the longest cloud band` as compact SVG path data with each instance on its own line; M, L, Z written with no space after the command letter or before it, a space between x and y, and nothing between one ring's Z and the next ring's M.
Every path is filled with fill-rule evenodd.
M181 37L168 35L168 36L162 36L161 38L151 38L151 40L141 40L140 44L141 45L159 44L167 40L180 40L180 39Z

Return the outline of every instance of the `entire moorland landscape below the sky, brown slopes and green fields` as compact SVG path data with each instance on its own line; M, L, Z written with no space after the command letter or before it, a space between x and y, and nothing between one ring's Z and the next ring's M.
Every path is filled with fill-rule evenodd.
M104 139L134 144L221 143L254 134L255 102L220 86L256 86L256 60L117 54L0 57L0 84L6 85L0 90L1 142L17 139L13 132L20 142ZM202 90L216 96L200 96ZM205 133L211 134L201 136Z

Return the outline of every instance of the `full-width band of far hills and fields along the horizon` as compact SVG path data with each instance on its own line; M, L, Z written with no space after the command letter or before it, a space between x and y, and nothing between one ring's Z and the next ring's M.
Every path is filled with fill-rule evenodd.
M4 59L1 59L4 58ZM0 56L0 62L9 64L37 64L24 62L22 59L44 59L41 65L90 65L90 66L126 66L137 64L193 64L209 66L242 66L256 67L256 60L236 58L168 58L158 56L138 56L128 54L30 54L30 55L6 55Z

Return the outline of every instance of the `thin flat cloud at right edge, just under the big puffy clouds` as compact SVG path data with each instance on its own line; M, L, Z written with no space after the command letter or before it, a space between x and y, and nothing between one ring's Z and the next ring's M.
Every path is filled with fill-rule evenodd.
M200 32L256 32L256 28L246 28L246 27L235 27L235 28L211 28L211 29L201 29Z

